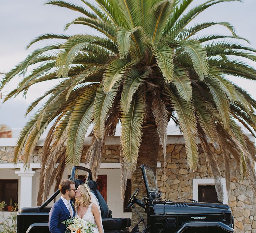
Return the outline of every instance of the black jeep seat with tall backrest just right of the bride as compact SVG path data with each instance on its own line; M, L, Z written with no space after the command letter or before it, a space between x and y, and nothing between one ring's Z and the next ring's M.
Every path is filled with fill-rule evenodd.
M88 180L87 185L99 201L102 216L102 224L105 230L124 229L126 227L131 226L130 218L111 218L111 211L109 210L106 201L97 189L98 185L95 181Z

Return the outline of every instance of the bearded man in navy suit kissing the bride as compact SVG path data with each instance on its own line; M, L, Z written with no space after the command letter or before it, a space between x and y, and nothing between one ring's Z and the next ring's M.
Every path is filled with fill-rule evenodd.
M61 198L53 204L49 213L51 233L64 233L66 226L62 222L75 216L74 202L70 200L76 195L75 183L72 180L63 180L59 190Z

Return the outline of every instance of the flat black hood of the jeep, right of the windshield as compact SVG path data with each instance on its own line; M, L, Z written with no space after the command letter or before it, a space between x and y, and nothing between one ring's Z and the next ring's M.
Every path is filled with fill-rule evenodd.
M203 202L168 202L154 201L156 215L165 214L231 214L231 209L225 204Z

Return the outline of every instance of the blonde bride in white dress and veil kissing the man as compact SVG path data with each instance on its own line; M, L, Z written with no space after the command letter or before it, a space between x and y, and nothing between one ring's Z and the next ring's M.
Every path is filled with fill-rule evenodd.
M76 201L74 207L76 210L76 217L96 224L96 227L92 228L94 233L104 233L99 204L94 194L90 191L88 185L79 185L76 189L75 197Z

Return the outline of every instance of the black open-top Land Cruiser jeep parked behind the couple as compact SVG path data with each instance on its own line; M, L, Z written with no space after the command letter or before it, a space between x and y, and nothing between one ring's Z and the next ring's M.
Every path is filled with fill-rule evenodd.
M127 208L134 207L136 203L147 212L147 221L141 219L138 224L145 225L143 233L224 233L234 232L234 218L231 209L225 204L162 201L158 192L153 170L142 165L147 196L142 200L136 198L137 189L127 204ZM112 218L107 203L97 190L97 183L92 180L89 169L75 166L72 168L70 179L78 187L83 181L75 179L75 171L83 170L87 174L87 184L98 198L101 208L103 228L106 233L129 232L131 220L129 218ZM57 190L40 207L22 208L17 214L17 233L42 233L48 231L48 217L51 207L47 205L59 194ZM131 232L139 232L138 224Z

